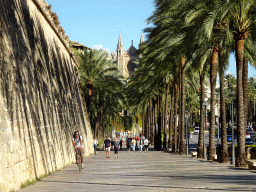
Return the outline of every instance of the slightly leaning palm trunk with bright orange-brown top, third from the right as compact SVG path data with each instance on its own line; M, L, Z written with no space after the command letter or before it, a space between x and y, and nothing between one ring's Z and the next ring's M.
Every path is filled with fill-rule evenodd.
M211 82L211 111L210 111L210 129L209 129L209 151L208 160L213 160L213 155L216 153L215 147L215 89L218 67L218 47L214 47L211 56L210 66L210 82Z

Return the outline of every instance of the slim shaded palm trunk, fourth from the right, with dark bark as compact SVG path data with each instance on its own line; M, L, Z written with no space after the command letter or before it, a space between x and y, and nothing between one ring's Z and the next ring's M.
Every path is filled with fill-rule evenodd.
M197 158L203 158L204 152L204 106L205 101L205 86L204 86L204 71L200 74L201 100L200 100L200 125L199 125L199 139L197 147Z

